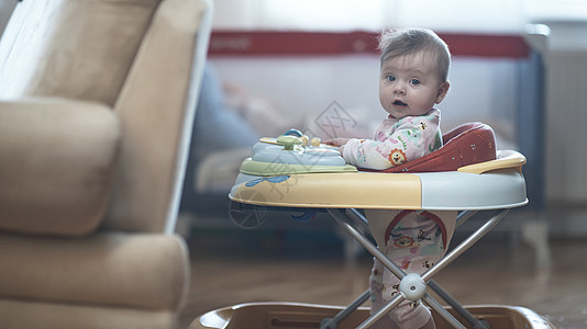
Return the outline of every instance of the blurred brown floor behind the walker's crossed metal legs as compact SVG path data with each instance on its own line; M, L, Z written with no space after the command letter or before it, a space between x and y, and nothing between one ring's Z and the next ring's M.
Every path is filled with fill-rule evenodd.
M192 229L182 322L245 302L348 304L367 288L370 257L345 261L342 239L328 228L294 236L284 228ZM435 281L464 305L524 306L556 328L587 328L587 239L550 243L551 265L536 269L530 247L511 235L490 234Z

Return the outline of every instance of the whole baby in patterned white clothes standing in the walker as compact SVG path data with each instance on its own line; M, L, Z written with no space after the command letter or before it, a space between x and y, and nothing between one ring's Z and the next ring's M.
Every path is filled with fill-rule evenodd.
M425 29L390 30L379 39L379 101L388 113L373 139L336 138L346 162L384 170L423 157L442 146L440 111L450 88L451 53ZM445 253L455 212L367 211L378 248L406 272L423 273ZM370 276L372 313L398 293L399 280L375 260ZM377 322L378 328L434 328L419 302L405 300Z

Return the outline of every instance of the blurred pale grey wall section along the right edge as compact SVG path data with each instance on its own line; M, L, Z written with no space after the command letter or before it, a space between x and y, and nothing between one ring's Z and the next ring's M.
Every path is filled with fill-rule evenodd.
M585 16L587 20L587 15ZM587 21L550 21L546 200L551 231L587 236Z

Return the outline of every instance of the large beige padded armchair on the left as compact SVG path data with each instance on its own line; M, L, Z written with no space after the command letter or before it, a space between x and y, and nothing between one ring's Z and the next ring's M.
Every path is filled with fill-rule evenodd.
M24 0L0 41L0 328L175 328L211 7Z

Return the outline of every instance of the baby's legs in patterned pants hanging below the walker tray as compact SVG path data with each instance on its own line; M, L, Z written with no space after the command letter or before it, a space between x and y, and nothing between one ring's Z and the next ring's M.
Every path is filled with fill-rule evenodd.
M456 212L369 211L367 219L379 249L394 263L407 273L423 274L444 256ZM372 313L399 293L399 282L375 260L370 276ZM419 300L403 300L375 328L434 328L434 322Z

